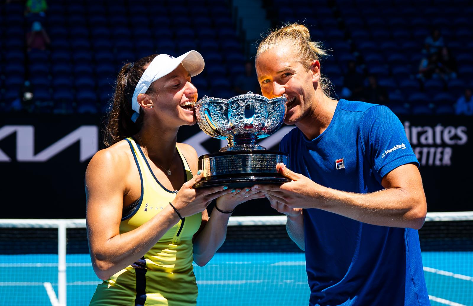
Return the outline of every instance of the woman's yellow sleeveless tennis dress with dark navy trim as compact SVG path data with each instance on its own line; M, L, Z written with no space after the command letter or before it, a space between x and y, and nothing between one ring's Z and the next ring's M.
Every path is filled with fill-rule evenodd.
M155 177L140 146L127 138L141 179L140 199L123 211L120 233L136 229L169 205L176 195ZM177 149L177 147L176 147ZM184 158L185 178L193 177ZM90 301L91 306L190 306L197 300L193 272L192 237L201 225L202 213L185 217L169 229L148 253L122 271L104 280ZM151 233L150 233L151 234Z

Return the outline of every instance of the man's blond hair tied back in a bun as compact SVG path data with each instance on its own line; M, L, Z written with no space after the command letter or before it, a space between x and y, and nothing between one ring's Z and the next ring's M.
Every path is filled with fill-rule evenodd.
M256 50L256 59L266 51L279 48L280 46L291 45L294 54L298 57L298 62L310 69L314 59L320 61L327 56L327 51L322 48L321 42L313 42L310 40L309 29L298 23L288 24L279 29L270 31L263 38ZM330 80L320 74L319 85L324 94L328 97L331 95Z

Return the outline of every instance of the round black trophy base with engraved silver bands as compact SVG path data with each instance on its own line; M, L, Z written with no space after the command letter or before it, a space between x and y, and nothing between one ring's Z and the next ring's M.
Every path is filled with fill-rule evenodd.
M269 150L226 151L199 157L202 179L193 188L227 185L231 188L255 184L282 184L290 179L276 170L276 164L289 164L286 153Z

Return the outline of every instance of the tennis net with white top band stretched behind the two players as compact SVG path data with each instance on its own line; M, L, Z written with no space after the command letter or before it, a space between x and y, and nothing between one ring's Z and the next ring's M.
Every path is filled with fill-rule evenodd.
M194 265L198 305L307 305L305 255L285 221L231 217L218 253ZM473 305L473 212L428 213L419 236L432 305ZM85 220L0 219L1 305L88 305L99 282Z

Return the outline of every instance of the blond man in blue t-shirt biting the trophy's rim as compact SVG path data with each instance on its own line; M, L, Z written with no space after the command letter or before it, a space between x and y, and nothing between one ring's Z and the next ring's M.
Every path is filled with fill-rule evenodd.
M427 204L403 125L385 106L330 99L323 55L298 24L259 44L262 93L285 94L296 125L280 144L295 172L278 164L292 181L254 188L306 251L311 306L430 305L417 232Z

